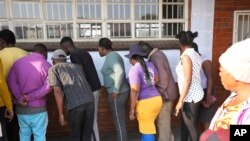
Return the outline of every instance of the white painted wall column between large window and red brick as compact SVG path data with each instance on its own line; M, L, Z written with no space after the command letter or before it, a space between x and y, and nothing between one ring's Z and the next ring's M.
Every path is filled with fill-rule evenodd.
M191 30L198 31L195 42L201 54L212 59L215 0L192 0Z

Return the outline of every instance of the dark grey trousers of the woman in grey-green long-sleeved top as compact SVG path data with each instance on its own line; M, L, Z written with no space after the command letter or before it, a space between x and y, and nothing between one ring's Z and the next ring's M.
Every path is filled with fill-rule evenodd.
M127 141L126 102L128 95L129 92L121 93L115 100L113 99L112 94L108 95L109 106L117 134L117 141Z

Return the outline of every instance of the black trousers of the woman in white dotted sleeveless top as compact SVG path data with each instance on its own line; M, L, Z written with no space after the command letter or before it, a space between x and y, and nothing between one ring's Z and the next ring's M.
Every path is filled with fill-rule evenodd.
M191 141L199 140L197 128L200 104L201 102L184 102L181 111L181 141L187 141L188 138L190 138Z

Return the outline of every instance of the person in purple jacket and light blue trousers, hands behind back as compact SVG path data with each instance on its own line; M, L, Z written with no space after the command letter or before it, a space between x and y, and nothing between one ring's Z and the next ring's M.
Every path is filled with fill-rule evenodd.
M36 44L34 52L17 60L10 69L8 85L14 96L15 112L20 126L20 141L46 140L48 114L46 95L51 92L48 83L47 47Z

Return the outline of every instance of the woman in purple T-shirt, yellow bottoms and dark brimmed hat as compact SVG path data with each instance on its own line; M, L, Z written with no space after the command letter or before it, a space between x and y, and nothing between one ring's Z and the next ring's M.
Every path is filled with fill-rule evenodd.
M129 70L130 84L130 120L135 117L139 122L142 141L155 141L155 119L162 107L162 98L155 84L158 82L158 72L151 62L145 62L145 51L140 45L133 45L129 49L129 58L133 65Z

